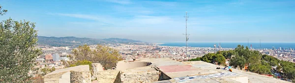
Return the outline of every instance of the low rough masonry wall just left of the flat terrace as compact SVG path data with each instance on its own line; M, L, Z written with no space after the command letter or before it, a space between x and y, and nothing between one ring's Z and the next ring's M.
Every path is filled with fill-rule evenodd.
M158 81L159 71L122 72L120 78L122 83L152 83Z

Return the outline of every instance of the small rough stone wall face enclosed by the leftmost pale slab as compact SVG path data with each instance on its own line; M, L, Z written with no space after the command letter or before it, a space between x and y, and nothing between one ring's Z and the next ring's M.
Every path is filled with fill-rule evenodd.
M70 71L71 83L91 83L90 71Z

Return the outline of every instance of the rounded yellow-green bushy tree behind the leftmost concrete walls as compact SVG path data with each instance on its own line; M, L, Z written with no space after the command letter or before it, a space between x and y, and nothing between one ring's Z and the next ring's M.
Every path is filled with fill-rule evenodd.
M115 67L116 63L122 60L117 50L99 44L94 50L91 50L88 45L79 46L77 49L73 49L70 58L74 62L83 60L88 60L93 63L98 62L105 68Z

